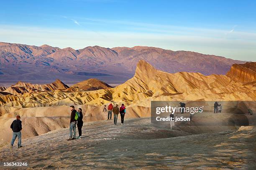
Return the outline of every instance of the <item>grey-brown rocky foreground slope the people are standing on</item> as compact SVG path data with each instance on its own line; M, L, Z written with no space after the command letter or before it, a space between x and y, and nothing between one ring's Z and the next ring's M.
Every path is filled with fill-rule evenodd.
M86 122L83 138L67 141L69 129L22 141L23 148L0 148L4 162L26 162L16 169L256 169L256 128L191 135L158 128L150 118ZM9 169L15 169L9 167Z

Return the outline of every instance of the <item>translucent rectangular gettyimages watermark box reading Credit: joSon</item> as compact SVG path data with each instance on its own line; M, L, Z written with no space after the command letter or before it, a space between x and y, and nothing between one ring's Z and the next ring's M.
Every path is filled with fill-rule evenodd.
M256 101L151 101L151 123L170 126L254 125Z

